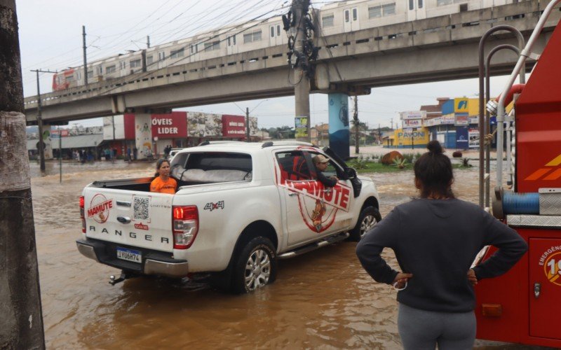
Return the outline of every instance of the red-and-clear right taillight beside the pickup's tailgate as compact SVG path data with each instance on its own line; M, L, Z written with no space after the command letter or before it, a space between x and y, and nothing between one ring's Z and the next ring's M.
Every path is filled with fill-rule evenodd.
M198 209L194 205L173 206L173 248L187 249L198 232Z

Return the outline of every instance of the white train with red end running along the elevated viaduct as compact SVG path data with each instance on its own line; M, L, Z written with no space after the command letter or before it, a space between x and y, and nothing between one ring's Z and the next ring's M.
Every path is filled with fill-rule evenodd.
M519 0L349 0L330 3L316 12L316 27L323 36L341 34L478 10ZM198 62L205 59L234 55L287 45L280 16L264 21L247 22L207 31L190 38L156 45L88 63L88 83L121 78L142 71L156 71L168 66ZM83 66L69 68L53 76L53 90L66 90L84 85Z

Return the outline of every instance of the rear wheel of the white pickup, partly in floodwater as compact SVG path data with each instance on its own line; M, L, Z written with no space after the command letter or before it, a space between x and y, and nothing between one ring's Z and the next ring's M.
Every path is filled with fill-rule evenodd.
M231 291L251 293L276 279L276 253L264 237L255 237L245 244L234 262Z

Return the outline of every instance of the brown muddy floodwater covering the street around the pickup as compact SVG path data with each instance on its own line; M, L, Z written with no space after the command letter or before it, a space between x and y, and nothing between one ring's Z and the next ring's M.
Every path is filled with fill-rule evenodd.
M399 349L396 291L374 283L342 242L280 260L275 283L229 295L203 282L130 279L83 257L79 195L101 179L151 176L153 164L58 163L47 176L31 165L43 318L48 349ZM472 202L478 171L456 171L454 190ZM414 195L412 172L367 174L377 182L381 214ZM385 258L396 265L393 253ZM528 349L478 341L477 349Z

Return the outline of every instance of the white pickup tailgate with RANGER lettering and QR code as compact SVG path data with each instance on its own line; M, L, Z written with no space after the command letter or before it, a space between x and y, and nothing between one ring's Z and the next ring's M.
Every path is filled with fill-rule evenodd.
M173 251L173 195L86 187L86 237Z

